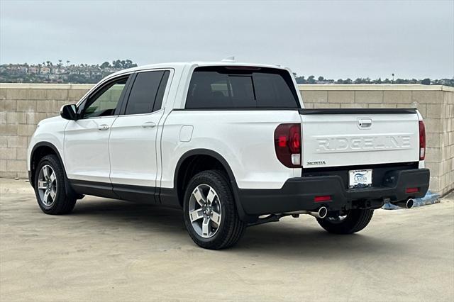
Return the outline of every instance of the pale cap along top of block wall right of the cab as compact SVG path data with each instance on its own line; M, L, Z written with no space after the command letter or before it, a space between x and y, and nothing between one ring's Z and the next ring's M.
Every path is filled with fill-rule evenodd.
M300 91L304 90L427 90L451 91L454 87L443 85L421 84L298 84Z

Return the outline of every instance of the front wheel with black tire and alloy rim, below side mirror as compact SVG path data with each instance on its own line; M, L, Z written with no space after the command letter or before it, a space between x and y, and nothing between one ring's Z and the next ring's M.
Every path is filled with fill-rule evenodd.
M40 160L35 172L35 195L46 214L67 214L74 208L77 199L66 191L65 172L55 155Z

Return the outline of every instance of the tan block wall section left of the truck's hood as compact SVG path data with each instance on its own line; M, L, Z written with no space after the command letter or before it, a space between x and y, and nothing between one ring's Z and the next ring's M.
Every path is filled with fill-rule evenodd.
M30 135L44 118L78 101L91 84L0 84L0 177L28 177Z

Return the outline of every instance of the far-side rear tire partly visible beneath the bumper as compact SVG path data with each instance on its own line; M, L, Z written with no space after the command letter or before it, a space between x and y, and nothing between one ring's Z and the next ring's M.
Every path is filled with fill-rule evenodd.
M345 217L317 218L322 228L333 234L353 234L365 228L372 219L373 209L353 209L348 211Z

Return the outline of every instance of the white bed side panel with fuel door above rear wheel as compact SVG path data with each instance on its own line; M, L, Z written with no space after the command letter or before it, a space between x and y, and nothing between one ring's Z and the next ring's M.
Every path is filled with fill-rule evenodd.
M184 153L208 149L228 162L240 189L280 189L287 179L301 175L301 169L287 168L277 160L274 132L280 123L301 123L298 111L172 111L162 130L160 186L173 187ZM182 141L188 140L188 128L192 135Z

